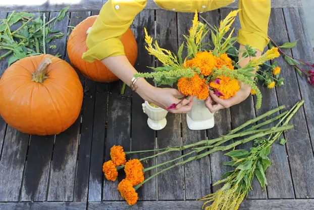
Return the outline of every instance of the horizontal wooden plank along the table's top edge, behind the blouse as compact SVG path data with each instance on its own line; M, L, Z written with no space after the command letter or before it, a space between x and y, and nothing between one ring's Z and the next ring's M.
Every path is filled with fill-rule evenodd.
M0 11L3 12L12 12L16 11L28 11L28 12L37 12L38 9L40 12L56 12L60 11L63 8L70 6L69 11L92 11L101 9L102 5L107 3L108 0L82 0L82 1L74 1L69 3L69 1L50 1L47 0L43 4L25 4L21 3L19 0L13 0L8 3L2 2L0 3ZM227 8L238 8L238 0L234 3L226 6ZM272 8L301 8L302 2L295 0L273 0ZM148 0L145 10L161 10L153 0Z

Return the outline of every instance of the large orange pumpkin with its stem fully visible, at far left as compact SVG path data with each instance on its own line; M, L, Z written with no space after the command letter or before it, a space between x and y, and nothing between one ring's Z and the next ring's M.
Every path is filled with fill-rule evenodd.
M23 58L0 79L0 114L27 134L53 135L78 118L83 88L70 64L52 55Z

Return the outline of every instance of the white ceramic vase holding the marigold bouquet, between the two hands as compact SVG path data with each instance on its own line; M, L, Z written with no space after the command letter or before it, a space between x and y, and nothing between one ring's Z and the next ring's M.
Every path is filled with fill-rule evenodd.
M186 122L190 130L211 129L215 125L214 114L205 106L203 100L193 99L192 110L186 114Z

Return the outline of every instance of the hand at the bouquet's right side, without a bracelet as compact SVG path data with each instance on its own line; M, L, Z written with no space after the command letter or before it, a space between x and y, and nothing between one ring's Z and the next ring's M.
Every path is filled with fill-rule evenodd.
M221 99L214 94L214 91L210 91L210 96L205 100L207 109L214 113L219 109L229 108L244 101L250 95L251 88L243 82L239 82L239 85L239 92L229 99Z

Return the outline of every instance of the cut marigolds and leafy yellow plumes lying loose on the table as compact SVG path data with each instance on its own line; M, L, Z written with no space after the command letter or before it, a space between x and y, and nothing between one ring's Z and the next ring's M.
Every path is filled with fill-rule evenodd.
M102 171L108 181L116 181L119 171L124 169L125 178L118 184L118 190L129 205L134 205L138 200L136 190L143 186L145 182L157 175L173 169L173 167L177 165L182 165L189 161L200 159L216 151L227 151L234 149L240 144L253 141L255 146L250 148L250 151L232 150L226 153L226 155L233 158L233 161L225 164L233 165L236 169L222 176L218 183L225 184L221 189L201 199L206 200L204 206L209 202L212 203L211 205L205 207L207 210L237 209L249 190L252 190L251 182L254 176L257 177L262 187L267 185L265 171L267 170L267 167L271 165L271 160L268 157L271 146L277 141L277 139L279 139L284 131L293 129L293 125L289 125L288 122L303 103L304 101L300 101L289 111L285 111L277 116L267 119L269 116L278 113L285 108L285 106L277 107L245 122L238 128L230 131L227 135L211 140L201 140L189 145L130 152L125 152L121 146L114 145L110 151L111 160L103 163ZM262 128L276 120L279 120L279 122L275 127L265 129ZM243 138L235 142L232 141L233 139L239 137ZM281 139L279 143L284 145L285 142L285 139ZM224 143L227 144L222 146ZM167 160L147 168L144 168L142 165L142 162L149 158L163 155L168 152L183 151L187 149L189 149L188 152L177 158ZM126 155L131 153L145 152L154 152L154 154L141 159L127 160L126 158ZM184 158L186 156L189 157ZM161 166L166 164L169 164L170 166L161 169ZM159 169L158 172L148 178L144 177L145 172L155 169L156 167Z

